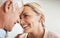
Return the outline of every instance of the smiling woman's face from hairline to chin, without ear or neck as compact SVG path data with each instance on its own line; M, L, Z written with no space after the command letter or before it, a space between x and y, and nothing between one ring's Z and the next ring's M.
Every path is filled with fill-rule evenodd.
M20 24L24 29L24 32L35 31L39 27L39 23L39 16L31 7L25 6L24 11L20 16Z

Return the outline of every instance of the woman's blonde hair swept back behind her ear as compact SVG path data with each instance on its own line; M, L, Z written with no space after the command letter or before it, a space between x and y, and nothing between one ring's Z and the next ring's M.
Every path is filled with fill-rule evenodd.
M26 4L24 4L24 6L29 6L29 7L31 7L33 9L33 11L36 12L36 14L42 15L42 17L41 17L43 19L42 26L44 27L45 17L44 17L44 14L43 14L43 10L41 9L41 6L39 4L37 4L37 3L35 3L35 2L26 3Z

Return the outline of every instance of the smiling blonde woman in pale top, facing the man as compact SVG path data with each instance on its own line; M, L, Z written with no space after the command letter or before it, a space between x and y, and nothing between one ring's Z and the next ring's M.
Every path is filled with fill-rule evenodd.
M57 38L51 32L46 33L44 28L44 15L37 3L27 3L20 15L20 24L24 29L22 35L16 38Z

